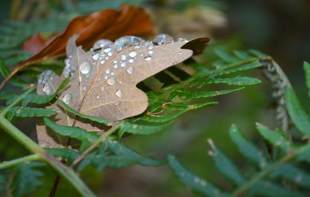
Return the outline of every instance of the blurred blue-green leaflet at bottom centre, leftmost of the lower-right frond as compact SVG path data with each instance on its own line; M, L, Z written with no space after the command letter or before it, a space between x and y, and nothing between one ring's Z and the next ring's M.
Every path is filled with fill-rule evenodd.
M177 178L195 193L205 197L222 197L221 191L217 187L187 170L175 156L168 155L168 164Z

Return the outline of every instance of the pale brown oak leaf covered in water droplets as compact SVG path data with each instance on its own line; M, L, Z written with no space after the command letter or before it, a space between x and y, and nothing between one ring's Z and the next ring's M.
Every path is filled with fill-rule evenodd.
M162 45L142 41L121 51L116 51L112 43L99 51L91 49L85 52L81 46L76 46L75 39L76 36L73 36L67 43L66 66L62 75L55 77L54 74L43 74L40 78L45 77L46 80L39 81L37 93L46 94L44 87L50 86L48 94L53 94L60 81L71 76L68 87L59 93L59 98L82 114L113 121L136 116L146 110L148 97L136 87L139 82L183 62L193 54L192 50L182 49L186 43L184 41ZM197 40L186 44L193 46L191 42L197 43ZM88 131L105 129L102 125L90 124L66 112L58 101L50 107L57 111L52 119L59 125L80 127ZM37 135L42 146L65 146L66 138L49 131L43 124L37 125Z

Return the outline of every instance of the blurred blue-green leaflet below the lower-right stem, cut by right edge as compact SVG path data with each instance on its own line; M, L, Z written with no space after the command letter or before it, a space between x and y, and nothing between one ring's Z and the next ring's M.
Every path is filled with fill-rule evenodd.
M284 164L276 168L270 175L270 178L281 177L297 185L310 188L310 174L302 169L295 167L293 164Z

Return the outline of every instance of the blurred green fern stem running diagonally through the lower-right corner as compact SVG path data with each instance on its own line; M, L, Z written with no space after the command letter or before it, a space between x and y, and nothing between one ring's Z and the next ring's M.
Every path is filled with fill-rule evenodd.
M294 153L285 156L279 162L272 164L272 165L269 165L263 171L261 171L256 176L254 176L249 181L247 181L245 184L241 185L233 193L232 197L241 197L242 195L245 194L246 191L248 191L251 187L253 187L258 181L260 181L261 179L266 177L268 174L270 174L272 171L274 171L277 167L291 161L292 159L296 158L298 155L300 155L306 151L309 151L309 150L310 150L310 144L307 144L306 146L296 150Z

